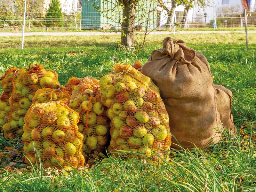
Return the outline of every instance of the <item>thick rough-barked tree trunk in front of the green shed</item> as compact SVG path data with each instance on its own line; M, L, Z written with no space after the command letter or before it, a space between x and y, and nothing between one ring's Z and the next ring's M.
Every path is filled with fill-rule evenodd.
M122 21L122 36L121 42L125 47L134 46L134 20L135 20L135 4L130 2L123 2L123 21Z

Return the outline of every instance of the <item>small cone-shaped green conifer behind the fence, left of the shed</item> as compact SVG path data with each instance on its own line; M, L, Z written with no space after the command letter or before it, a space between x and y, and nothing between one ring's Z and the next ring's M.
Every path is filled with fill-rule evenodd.
M61 12L61 6L59 0L52 0L49 9L45 15L46 18L46 26L63 26L63 14Z

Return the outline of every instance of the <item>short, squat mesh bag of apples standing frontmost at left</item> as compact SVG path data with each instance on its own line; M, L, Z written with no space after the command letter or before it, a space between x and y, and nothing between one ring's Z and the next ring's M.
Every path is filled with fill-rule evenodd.
M21 137L28 151L26 163L70 170L84 165L83 134L78 131L78 113L57 101L33 104L25 116ZM37 151L36 151L36 150Z

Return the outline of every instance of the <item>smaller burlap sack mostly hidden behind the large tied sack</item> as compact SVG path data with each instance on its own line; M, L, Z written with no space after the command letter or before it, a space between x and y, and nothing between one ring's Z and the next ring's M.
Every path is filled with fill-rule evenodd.
M214 85L217 96L217 110L220 113L220 120L223 127L227 127L231 133L236 134L236 126L233 123L231 114L232 92L221 85Z

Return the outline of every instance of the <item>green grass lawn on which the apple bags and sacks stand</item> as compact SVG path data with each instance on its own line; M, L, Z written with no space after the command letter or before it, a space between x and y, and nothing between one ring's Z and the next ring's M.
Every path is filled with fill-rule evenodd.
M141 47L143 36L136 34L136 47L130 51L118 46L120 36L29 36L25 37L24 50L18 49L20 37L0 37L0 75L11 66L28 68L37 61L56 70L62 85L71 76L100 78L117 61L132 64L137 59L145 63L153 50L162 48L164 37L148 35ZM183 39L189 47L203 52L214 84L232 91L237 127L234 138L224 132L223 140L205 151L172 150L170 162L160 165L145 159L102 161L104 156L99 154L94 164L65 172L27 166L21 159L21 139L5 140L1 135L1 191L256 191L256 36L249 34L249 51L245 34L172 38Z

